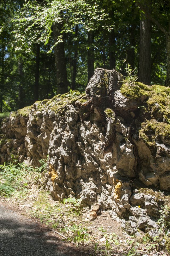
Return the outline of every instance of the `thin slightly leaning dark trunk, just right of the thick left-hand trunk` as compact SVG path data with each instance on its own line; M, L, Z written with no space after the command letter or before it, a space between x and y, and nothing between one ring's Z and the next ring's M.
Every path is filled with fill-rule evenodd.
M75 38L77 39L78 36L78 25L75 26ZM74 44L74 59L73 59L73 72L72 72L72 79L71 79L71 88L75 90L75 79L77 74L77 56L78 56L78 41L75 41Z

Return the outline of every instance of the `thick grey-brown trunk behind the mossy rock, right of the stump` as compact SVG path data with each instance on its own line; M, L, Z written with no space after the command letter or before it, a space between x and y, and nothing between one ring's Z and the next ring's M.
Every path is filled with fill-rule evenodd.
M150 12L151 1L147 2ZM151 84L151 20L143 15L140 22L139 82Z

